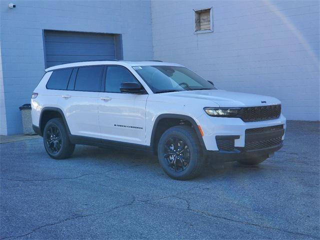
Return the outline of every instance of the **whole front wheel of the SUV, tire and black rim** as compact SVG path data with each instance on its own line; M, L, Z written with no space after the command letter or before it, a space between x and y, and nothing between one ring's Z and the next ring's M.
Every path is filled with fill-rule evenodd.
M205 162L195 131L185 125L168 128L159 139L157 152L164 172L177 180L198 176Z

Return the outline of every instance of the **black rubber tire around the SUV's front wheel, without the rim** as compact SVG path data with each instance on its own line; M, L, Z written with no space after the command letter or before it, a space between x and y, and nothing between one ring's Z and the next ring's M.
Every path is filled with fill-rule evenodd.
M164 144L170 137L178 137L181 140L185 141L186 145L189 148L190 151L190 161L188 166L185 170L176 172L173 169L171 169L168 166L168 161L163 157L164 156ZM183 129L177 129L177 128L169 128L166 130L162 136L159 139L158 142L158 160L160 165L162 166L163 170L167 175L174 179L183 179L187 178L188 175L192 174L194 168L196 167L197 158L199 157L199 152L197 149L197 145L192 139L192 136L190 137L189 133L187 131L184 131Z

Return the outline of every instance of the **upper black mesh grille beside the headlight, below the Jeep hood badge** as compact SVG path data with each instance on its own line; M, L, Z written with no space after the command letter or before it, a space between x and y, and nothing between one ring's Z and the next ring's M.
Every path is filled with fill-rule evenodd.
M248 121L263 121L275 119L280 116L281 105L243 107L241 109L241 119Z

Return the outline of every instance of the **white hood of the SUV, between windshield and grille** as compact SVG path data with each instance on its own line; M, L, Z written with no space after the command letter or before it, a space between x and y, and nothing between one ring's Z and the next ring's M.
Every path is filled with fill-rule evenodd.
M192 90L165 93L170 96L213 101L220 107L262 106L279 104L275 97L225 90Z

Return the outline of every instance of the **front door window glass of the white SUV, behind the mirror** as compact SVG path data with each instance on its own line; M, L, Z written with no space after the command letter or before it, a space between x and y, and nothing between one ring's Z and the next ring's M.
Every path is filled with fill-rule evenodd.
M105 91L121 92L120 86L122 82L138 82L132 73L121 66L108 66L106 70Z

